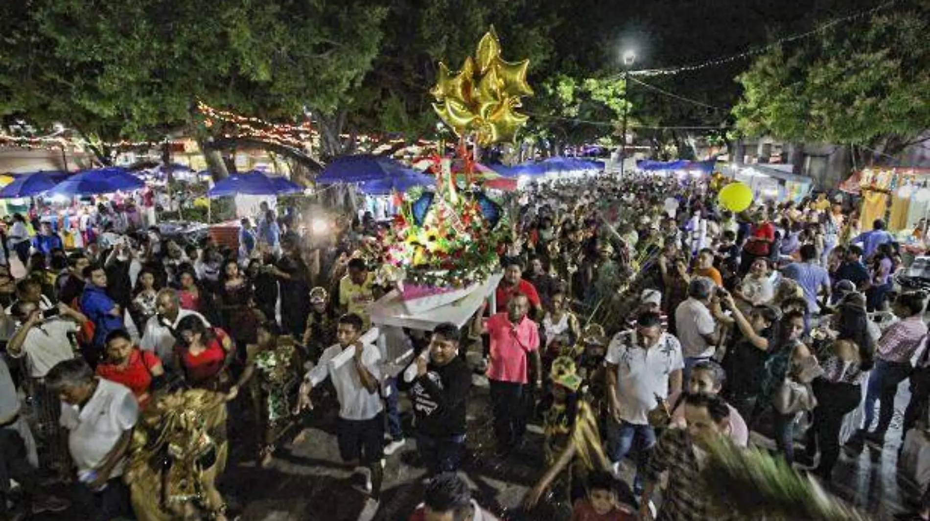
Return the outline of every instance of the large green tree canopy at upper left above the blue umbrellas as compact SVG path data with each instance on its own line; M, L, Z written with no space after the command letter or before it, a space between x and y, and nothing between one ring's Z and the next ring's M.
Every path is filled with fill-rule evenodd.
M197 122L197 99L266 118L334 111L379 51L366 0L5 2L0 114L106 139Z

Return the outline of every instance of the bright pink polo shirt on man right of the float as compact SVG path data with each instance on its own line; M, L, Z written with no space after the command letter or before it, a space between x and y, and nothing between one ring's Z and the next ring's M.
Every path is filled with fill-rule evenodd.
M539 348L539 326L524 317L512 324L507 313L492 315L485 322L491 337L491 357L487 377L498 382L528 383L526 354Z

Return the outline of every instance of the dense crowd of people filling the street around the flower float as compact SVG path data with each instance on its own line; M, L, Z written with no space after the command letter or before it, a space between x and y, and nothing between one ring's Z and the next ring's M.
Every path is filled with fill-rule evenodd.
M76 479L90 519L230 519L215 484L230 444L267 465L310 436L316 404L338 410L360 518L378 511L384 459L413 436L431 480L411 519L493 519L456 474L474 449L474 372L488 383L492 457L534 449L527 425L541 426L546 468L526 512L726 518L700 475L721 440L770 437L829 483L841 448L885 443L898 384L930 373L925 295L895 293L894 236L881 220L860 232L844 204L819 193L734 214L703 181L534 186L503 202L497 307L465 328L381 327L381 341L371 306L394 282L363 252L389 224L370 214L318 234L263 205L238 247L127 221L65 248L51 226L29 238L14 217L27 273L0 267L0 513L67 509L45 474ZM930 386L912 391L905 433L926 418Z

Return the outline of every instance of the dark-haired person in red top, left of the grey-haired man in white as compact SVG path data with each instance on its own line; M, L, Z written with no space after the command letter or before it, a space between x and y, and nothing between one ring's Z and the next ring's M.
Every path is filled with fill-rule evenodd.
M142 351L132 344L129 333L114 330L107 335L106 357L97 366L97 375L129 387L144 409L153 391L153 381L165 376L162 361L151 351ZM157 384L154 385L157 387Z

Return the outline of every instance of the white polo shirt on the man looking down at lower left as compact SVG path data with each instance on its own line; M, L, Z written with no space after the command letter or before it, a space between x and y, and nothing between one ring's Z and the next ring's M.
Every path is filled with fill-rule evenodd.
M68 429L68 449L77 470L100 466L123 433L136 425L139 402L123 384L97 379L97 390L84 408L61 403L61 426ZM110 477L123 475L126 459L113 467Z

